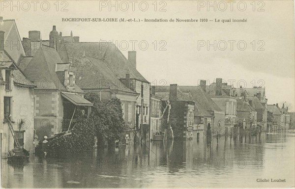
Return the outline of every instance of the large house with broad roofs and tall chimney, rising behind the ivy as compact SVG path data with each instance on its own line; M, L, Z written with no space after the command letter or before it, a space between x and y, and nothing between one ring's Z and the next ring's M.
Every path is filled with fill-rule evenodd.
M120 99L129 141L149 140L150 83L136 69L136 52L128 52L127 59L113 43L74 40L67 43L67 54L84 91L97 92L103 101Z

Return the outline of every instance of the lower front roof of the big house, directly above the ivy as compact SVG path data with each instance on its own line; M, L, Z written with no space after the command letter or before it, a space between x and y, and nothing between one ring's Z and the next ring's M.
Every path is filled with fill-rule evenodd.
M128 93L136 92L128 89L102 60L84 56L72 59L76 66L76 82L83 89L111 89Z

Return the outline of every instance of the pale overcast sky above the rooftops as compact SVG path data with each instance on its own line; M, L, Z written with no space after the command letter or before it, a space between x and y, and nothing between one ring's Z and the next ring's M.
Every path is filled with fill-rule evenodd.
M132 50L130 40L137 40L135 43L137 69L150 82L160 85L164 84L160 82L164 80L165 84L197 85L198 80L213 82L216 78L222 78L225 81L236 80L233 84L237 87L237 81L245 80L247 87L261 84L266 87L268 104L286 101L292 103L294 110L295 25L292 0L265 0L262 3L256 1L255 11L252 1L243 1L239 7L237 5L239 1L236 1L232 6L233 11L229 1L222 1L222 4L219 4L221 1L215 1L216 11L213 10L214 7L207 7L207 1L197 0L166 1L166 4L157 1L157 11L152 4L154 1L146 1L147 11L140 10L140 1L135 2L134 11L132 3L128 1L127 11L120 10L120 5L121 8L125 8L125 4L120 4L119 1L118 11L115 8L109 11L108 6L100 6L104 5L105 1L99 0L70 0L66 1L67 4L59 2L58 9L66 5L68 11L56 11L57 7L54 4L56 1L49 2L51 7L48 11L42 11L40 3L36 5L36 11L33 10L33 4L30 4L28 11L22 10L22 7L19 11L16 8L10 11L10 4L9 7L3 7L1 4L3 8L1 16L4 19L16 20L21 38L28 37L29 30L39 30L43 40L49 39L49 32L52 26L56 25L63 36L70 35L72 30L73 35L80 36L82 42L114 41L121 45L119 49L126 57L128 50ZM115 3L113 1L113 4ZM214 1L210 3L213 4ZM145 9L145 4L141 4L142 9ZM227 4L227 8L221 11L224 9L224 4ZM247 7L241 11L245 4ZM26 4L20 4L22 5L23 9L27 8ZM163 6L166 11L158 11ZM265 11L258 11L259 8ZM198 19L199 22L62 22L62 18L84 17L125 20L192 18ZM201 23L200 19L208 19L208 22ZM209 21L215 19L219 19L220 23ZM232 22L222 23L223 19L232 19ZM247 19L247 22L233 23L233 19ZM231 40L235 41L233 50L230 47ZM125 48L124 41L129 42L128 49ZM140 41L148 43L147 50L139 48ZM156 50L154 41L157 41ZM165 42L160 43L160 41ZM202 41L206 44L207 42L213 44L216 41L216 51L214 47L210 47L208 51L206 44L205 47L200 47ZM227 48L224 46L225 43L220 41L225 41ZM237 46L237 42L241 42L240 46ZM244 43L247 45L246 49L239 50L238 48L243 48ZM144 44L142 42L143 48ZM160 47L166 51L160 51ZM264 50L258 51L259 48ZM263 82L258 83L260 80Z

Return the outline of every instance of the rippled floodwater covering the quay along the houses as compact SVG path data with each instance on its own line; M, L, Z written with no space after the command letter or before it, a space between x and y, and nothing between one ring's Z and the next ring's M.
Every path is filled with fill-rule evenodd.
M198 135L198 136L197 136ZM290 188L295 134L152 141L67 159L1 164L4 188ZM259 180L261 179L261 180ZM269 179L269 182L259 182ZM281 179L285 182L271 182ZM285 180L284 180L285 179Z

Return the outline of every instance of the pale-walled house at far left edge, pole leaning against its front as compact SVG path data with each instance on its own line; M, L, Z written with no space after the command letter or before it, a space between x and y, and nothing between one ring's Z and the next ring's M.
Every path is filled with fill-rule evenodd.
M14 21L9 22L13 23L10 33L18 33ZM4 25L6 24L7 22L4 22ZM9 115L13 121L15 137L19 139L20 145L30 153L34 152L35 85L25 77L9 54L18 57L18 52L9 51L8 53L5 50L4 39L7 39L7 36L4 31L0 31L0 154L2 158L5 158L7 152L16 145L5 120Z

